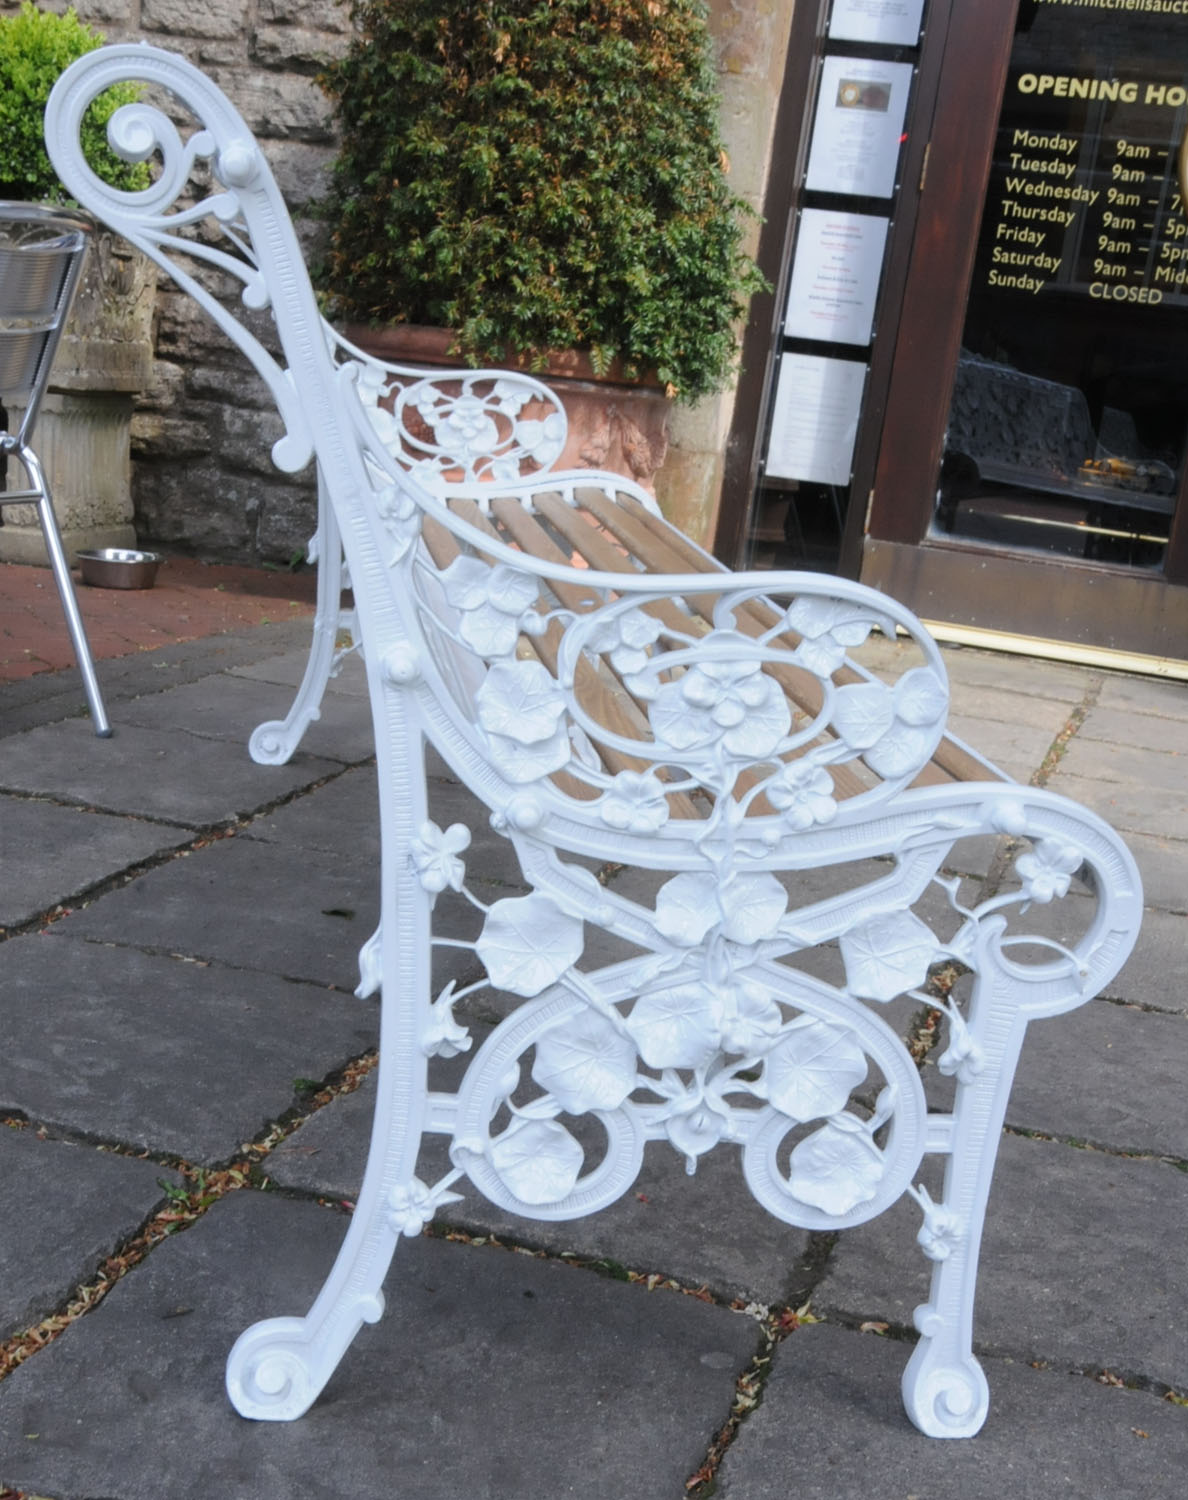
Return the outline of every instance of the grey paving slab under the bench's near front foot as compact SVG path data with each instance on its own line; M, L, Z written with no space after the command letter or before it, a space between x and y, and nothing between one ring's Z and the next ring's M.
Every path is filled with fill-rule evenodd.
M716 1500L1172 1500L1188 1412L1084 1376L987 1362L990 1414L970 1440L922 1437L903 1413L906 1344L798 1329L718 1472Z

